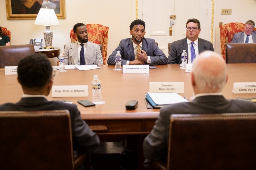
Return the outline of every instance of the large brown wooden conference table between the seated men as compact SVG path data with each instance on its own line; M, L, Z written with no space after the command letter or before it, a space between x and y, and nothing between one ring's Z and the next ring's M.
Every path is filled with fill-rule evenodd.
M150 69L149 73L123 73L114 71L113 65L100 65L99 67L101 69L87 71L68 69L67 72L56 72L54 77L53 86L88 85L88 97L53 98L50 92L47 98L48 100L65 99L76 104L82 118L90 126L96 127L95 131L103 141L137 136L137 140L140 141L137 142L137 147L142 145L143 138L152 130L160 112L158 108L148 109L146 107L144 98L145 93L149 92L149 82L184 82L184 93L179 95L190 101L190 97L193 96L191 73L180 69L178 64L157 65L156 69ZM223 89L224 97L227 99L256 97L256 94L234 94L232 92L234 82L256 82L255 68L256 64L227 64L229 76ZM4 75L4 69L0 69L0 75L0 104L19 101L23 92L17 81L17 75ZM92 101L93 75L98 75L101 81L102 100L106 103L84 107L78 104L77 100ZM138 101L135 110L125 108L129 100ZM97 127L105 127L105 129L97 129Z

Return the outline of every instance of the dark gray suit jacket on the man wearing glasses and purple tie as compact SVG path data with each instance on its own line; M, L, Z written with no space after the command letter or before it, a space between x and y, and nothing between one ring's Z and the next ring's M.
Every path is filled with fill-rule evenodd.
M171 44L171 49L168 56L168 64L181 64L181 54L183 50L186 50L186 53L188 54L189 49L187 38L174 41ZM214 51L212 43L205 39L198 38L198 53L200 54L206 50Z

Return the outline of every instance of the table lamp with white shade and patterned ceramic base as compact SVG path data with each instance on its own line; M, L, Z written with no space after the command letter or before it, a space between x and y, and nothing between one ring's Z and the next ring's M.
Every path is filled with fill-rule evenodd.
M52 31L50 30L51 25L59 25L59 21L53 9L50 8L41 8L39 13L37 14L36 21L34 25L44 25L46 30L44 31L44 41L45 48L53 48L52 47Z

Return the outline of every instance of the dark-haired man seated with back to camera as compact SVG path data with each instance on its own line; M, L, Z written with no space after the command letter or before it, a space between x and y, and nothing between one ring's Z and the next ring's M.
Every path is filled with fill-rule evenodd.
M77 106L58 101L48 101L55 72L45 55L32 54L23 58L17 68L18 82L24 94L18 103L0 105L0 111L63 110L70 112L74 154L77 150L94 152L100 143L99 137L82 120Z

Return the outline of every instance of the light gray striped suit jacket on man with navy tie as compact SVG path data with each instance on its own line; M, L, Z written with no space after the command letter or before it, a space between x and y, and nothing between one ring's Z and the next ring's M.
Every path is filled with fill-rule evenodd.
M77 41L65 47L65 64L73 65L78 64L78 44ZM86 43L85 51L85 64L86 65L103 65L103 59L101 49L98 44L94 44L91 41Z

